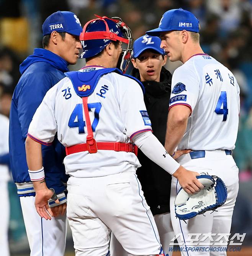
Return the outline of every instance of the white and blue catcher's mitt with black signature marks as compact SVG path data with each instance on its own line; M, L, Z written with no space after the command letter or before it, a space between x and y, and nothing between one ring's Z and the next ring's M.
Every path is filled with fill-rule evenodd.
M226 202L227 188L223 180L216 176L200 175L196 177L204 189L190 195L182 188L175 199L175 213L180 220L188 220L198 214L215 210Z

